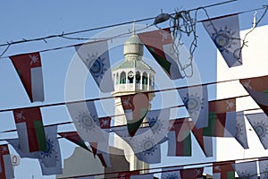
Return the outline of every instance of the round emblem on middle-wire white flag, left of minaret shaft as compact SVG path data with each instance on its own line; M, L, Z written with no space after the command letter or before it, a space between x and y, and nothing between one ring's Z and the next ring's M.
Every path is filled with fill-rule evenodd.
M96 116L91 115L88 111L80 112L75 119L86 132L94 131L96 128Z

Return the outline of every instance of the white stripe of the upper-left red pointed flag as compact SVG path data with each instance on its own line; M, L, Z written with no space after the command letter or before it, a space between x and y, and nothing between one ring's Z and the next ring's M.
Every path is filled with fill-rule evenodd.
M30 68L31 92L33 101L44 101L42 67Z

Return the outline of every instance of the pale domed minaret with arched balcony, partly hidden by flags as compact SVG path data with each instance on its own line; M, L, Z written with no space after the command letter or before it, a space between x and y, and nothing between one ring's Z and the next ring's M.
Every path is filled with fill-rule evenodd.
M146 64L143 60L143 44L133 31L130 38L124 43L124 58L125 60L117 67L113 68L113 82L115 97L115 117L114 126L127 124L127 120L121 107L121 95L135 94L142 91L154 90L155 71ZM155 94L149 94L150 101L155 97ZM116 116L119 115L119 116ZM148 168L147 163L141 162L133 154L130 146L122 141L120 137L114 134L114 147L124 149L125 156L130 162L130 170Z

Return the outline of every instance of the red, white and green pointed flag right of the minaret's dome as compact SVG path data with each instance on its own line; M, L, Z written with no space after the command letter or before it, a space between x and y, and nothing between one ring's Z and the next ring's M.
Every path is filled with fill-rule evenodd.
M172 80L182 78L177 63L179 57L176 56L169 28L139 33L138 38Z

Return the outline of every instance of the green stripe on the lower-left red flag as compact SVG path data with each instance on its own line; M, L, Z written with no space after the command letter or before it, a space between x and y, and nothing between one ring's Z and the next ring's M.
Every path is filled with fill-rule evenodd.
M46 134L42 121L34 122L39 150L46 150Z

